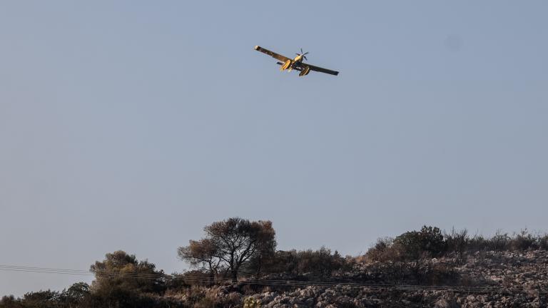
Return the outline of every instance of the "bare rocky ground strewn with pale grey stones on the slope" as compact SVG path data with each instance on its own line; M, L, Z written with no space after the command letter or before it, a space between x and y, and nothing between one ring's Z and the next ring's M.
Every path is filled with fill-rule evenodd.
M240 282L214 292L210 289L206 296L210 302L224 303L225 307L241 307L244 297L256 299L261 307L273 308L547 307L548 304L548 252L544 250L477 252L467 257L464 264L457 264L450 257L423 260L418 270L410 272L417 270L423 278L432 279L427 272L432 271L430 274L442 273L445 275L442 278L448 279L430 280L422 285L394 281L395 270L411 274L396 264L362 263L351 271L338 273L333 281L323 285L305 286L306 282L300 287L263 285L262 290L253 292L250 285ZM179 299L185 301L188 297Z

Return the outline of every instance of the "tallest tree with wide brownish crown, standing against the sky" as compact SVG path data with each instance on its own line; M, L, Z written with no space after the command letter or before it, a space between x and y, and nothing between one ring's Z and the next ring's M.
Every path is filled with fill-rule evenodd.
M210 277L223 269L235 281L251 260L275 251L275 231L270 221L251 222L233 217L213 222L203 230L205 238L179 247L178 255L191 265L208 270Z

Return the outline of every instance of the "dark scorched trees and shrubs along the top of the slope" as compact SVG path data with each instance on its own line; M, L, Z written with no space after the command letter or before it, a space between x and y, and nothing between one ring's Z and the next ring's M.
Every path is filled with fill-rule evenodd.
M485 282L456 270L470 257L548 250L548 235L527 230L483 237L424 226L380 238L357 257L343 257L327 247L276 250L270 221L235 217L213 222L203 231L203 238L178 247L178 257L190 265L186 272L165 274L147 260L116 251L91 265L91 284L78 282L60 292L29 292L19 298L4 296L0 308L242 307L250 294L297 289L268 283L275 281L303 282L301 287L305 282L477 286Z

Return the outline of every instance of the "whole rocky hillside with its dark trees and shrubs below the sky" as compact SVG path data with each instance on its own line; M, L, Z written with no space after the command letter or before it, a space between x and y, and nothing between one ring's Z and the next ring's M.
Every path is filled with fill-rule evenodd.
M230 218L204 230L178 249L193 270L166 274L116 251L91 265L91 285L5 296L0 308L548 307L548 236L527 230L482 237L424 226L355 257L275 250L269 221Z

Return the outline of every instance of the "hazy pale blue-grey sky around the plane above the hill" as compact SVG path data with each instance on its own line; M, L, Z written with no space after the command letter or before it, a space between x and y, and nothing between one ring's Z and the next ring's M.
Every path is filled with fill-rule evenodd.
M0 265L548 231L546 1L1 1ZM280 72L259 45L340 71ZM0 295L91 277L0 272Z

